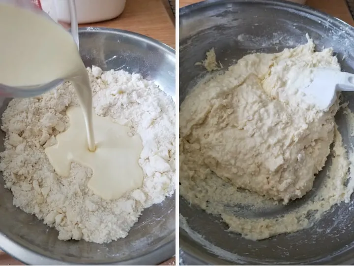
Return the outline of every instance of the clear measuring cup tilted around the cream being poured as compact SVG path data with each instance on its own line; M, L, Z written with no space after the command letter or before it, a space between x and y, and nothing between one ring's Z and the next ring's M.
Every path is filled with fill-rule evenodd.
M42 0L43 3L45 4L51 4L51 11L55 13L55 0ZM43 11L42 9L42 4L41 0L0 0L0 4L5 3L5 4L12 4L16 5L21 8L25 8L27 10L30 10L31 12L35 12L38 15L41 16L46 16L47 19L51 19L59 23L61 26L64 28L70 28L71 35L74 38L74 41L76 42L77 46L79 47L79 34L78 34L78 24L77 24L77 18L76 18L76 7L75 7L75 1L74 0L62 0L62 1L67 1L68 5L68 12L69 16L71 18L70 26L68 24L65 24L60 21L56 21L55 16L50 16L50 14L47 14L46 12ZM24 42L24 45L26 45L26 42ZM16 59L14 59L16 60ZM63 80L57 79L53 80L49 83L46 84L38 84L36 86L31 86L31 87L12 87L12 86L7 86L5 84L1 84L0 81L0 97L1 98L26 98L26 97L33 97L37 96L40 94L43 94L55 87L57 87L59 84L61 84Z

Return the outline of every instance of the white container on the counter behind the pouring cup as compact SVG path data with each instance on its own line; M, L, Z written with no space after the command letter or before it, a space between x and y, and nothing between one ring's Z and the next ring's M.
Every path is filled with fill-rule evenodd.
M78 23L93 23L118 17L126 0L75 0ZM42 8L54 20L70 23L67 1L41 0Z

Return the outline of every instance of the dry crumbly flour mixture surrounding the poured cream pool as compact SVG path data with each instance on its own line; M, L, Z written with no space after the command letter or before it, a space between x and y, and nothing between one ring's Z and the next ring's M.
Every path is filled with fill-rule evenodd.
M36 98L10 101L2 115L6 150L0 170L14 205L55 227L59 239L104 243L125 237L144 208L173 195L175 103L139 74L95 66L88 73L96 114L129 126L142 139L143 187L107 201L88 189L91 169L73 163L68 178L56 174L44 148L68 128L65 110L79 105L69 83Z

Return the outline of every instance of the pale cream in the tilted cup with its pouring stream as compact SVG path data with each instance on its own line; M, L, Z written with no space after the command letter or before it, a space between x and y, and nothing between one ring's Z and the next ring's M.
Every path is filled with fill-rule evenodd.
M31 90L70 80L84 111L89 150L94 151L89 76L70 33L43 15L0 2L0 36L0 84Z

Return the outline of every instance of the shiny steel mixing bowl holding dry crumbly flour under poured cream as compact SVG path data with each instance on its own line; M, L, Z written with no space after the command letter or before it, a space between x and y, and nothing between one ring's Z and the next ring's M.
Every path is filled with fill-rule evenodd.
M123 69L175 97L175 51L146 36L105 28L79 31L86 66ZM0 108L6 108L8 100ZM0 133L3 150L4 133ZM175 196L144 210L128 236L109 244L60 241L58 233L12 205L0 177L0 249L30 265L156 265L175 254Z

